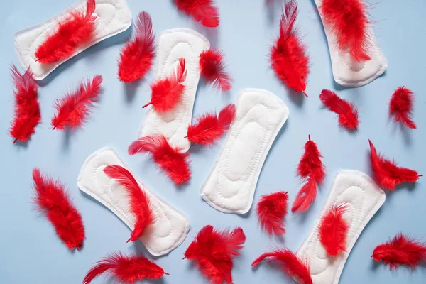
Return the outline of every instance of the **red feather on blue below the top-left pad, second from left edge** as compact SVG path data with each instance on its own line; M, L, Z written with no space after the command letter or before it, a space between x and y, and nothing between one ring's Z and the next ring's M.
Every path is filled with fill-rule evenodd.
M80 83L80 87L72 94L67 94L62 99L57 99L55 109L57 113L53 116L53 129L75 129L77 126L82 126L90 114L89 107L92 107L94 102L97 102L100 92L100 84L102 76L95 75L92 82L87 79Z

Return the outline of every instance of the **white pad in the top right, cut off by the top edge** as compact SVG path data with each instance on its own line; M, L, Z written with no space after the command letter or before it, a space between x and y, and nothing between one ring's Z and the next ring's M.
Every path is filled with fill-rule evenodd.
M346 0L340 0L346 1ZM315 0L317 7L321 6L322 0ZM320 13L321 16L321 13ZM322 16L321 16L322 19ZM324 24L325 35L329 45L330 58L332 60L333 77L337 84L344 87L361 87L373 82L377 77L385 72L388 67L388 60L377 43L373 28L368 26L368 40L370 48L368 55L371 60L366 62L356 62L349 53L339 51L337 40L331 32L331 28Z

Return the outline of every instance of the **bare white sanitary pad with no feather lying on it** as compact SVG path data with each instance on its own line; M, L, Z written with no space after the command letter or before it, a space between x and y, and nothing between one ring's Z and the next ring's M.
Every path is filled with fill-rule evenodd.
M287 118L288 107L275 94L265 89L239 93L236 117L201 188L210 206L225 213L249 211L263 162Z

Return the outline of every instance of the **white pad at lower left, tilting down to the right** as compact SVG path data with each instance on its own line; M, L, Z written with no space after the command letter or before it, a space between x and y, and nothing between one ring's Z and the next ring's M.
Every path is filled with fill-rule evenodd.
M136 219L129 209L129 197L122 185L104 173L103 169L107 165L121 165L129 170L114 150L102 148L89 155L84 162L77 185L80 190L104 204L133 229ZM136 175L133 173L132 175L136 178ZM146 228L141 241L153 256L162 256L182 244L190 230L190 221L184 214L155 195L138 178L136 180L148 193L154 214L153 224Z

